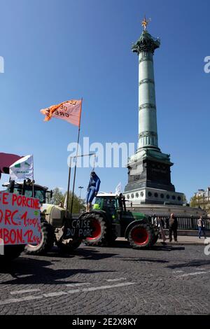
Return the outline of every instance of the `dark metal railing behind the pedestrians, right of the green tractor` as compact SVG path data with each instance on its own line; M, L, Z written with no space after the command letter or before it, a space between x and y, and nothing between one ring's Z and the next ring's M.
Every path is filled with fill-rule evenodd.
M168 216L155 216L162 219L165 223L164 228L168 228L169 217ZM155 217L152 217L154 221ZM178 230L197 230L197 220L199 217L176 217L178 221ZM210 218L203 218L204 227L207 231L210 231Z

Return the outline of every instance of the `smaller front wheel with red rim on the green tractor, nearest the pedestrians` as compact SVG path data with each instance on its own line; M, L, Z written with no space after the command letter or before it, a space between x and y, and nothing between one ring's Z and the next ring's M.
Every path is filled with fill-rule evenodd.
M149 248L153 244L153 231L148 225L134 225L128 233L128 241L132 248Z

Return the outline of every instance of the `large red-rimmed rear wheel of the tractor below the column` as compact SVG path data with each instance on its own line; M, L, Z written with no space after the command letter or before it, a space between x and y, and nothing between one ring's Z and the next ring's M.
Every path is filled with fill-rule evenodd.
M85 239L87 246L105 246L109 243L107 235L107 223L100 214L87 214L85 219L91 221L91 227L93 228L92 237Z

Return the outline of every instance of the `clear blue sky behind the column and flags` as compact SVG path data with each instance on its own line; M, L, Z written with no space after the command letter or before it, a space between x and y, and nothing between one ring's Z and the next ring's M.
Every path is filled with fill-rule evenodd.
M148 31L161 39L155 52L159 146L171 154L177 192L189 200L206 189L209 12L209 0L0 0L0 152L34 154L36 182L66 190L67 144L76 141L77 128L57 119L43 123L39 110L80 97L81 139L137 142L138 58L131 46L146 14ZM103 191L127 183L126 168L96 172ZM78 169L77 194L89 174Z

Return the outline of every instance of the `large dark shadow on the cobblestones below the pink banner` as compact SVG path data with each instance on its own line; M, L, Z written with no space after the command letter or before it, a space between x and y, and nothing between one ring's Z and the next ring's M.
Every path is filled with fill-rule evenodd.
M55 260L57 261L57 260ZM13 279L1 281L1 284L61 284L71 283L65 279L75 274L94 274L102 272L115 272L109 270L90 270L90 269L52 269L53 265L48 260L40 260L38 258L20 257L8 264L0 266L1 274L10 274ZM1 275L0 275L1 280ZM73 281L76 283L76 281Z

